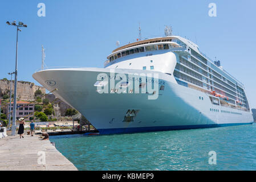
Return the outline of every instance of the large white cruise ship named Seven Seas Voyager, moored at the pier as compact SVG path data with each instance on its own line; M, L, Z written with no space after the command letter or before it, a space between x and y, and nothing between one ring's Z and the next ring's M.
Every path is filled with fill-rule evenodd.
M32 76L100 134L253 123L242 82L181 36L118 47L104 68L44 69Z

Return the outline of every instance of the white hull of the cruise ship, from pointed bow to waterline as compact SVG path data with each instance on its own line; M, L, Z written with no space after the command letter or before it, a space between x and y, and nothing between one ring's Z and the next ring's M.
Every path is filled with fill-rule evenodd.
M82 113L100 134L134 133L246 125L253 123L251 112L213 105L209 95L178 85L169 75L159 72L165 82L157 100L145 93L103 93L94 86L99 73L107 68L48 69L33 77L47 90ZM115 69L116 73L150 72ZM203 97L204 100L200 100ZM124 122L128 109L137 110L134 121ZM216 111L211 111L211 110ZM218 110L218 111L217 111ZM221 111L229 111L222 113Z

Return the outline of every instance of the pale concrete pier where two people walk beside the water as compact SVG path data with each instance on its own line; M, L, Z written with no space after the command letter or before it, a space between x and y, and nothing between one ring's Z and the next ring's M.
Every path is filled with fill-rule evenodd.
M45 157L44 157L45 156ZM50 142L39 135L0 139L0 171L77 171Z

